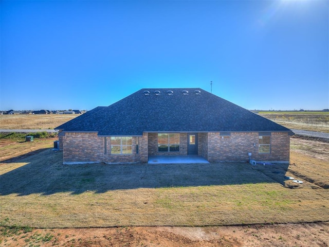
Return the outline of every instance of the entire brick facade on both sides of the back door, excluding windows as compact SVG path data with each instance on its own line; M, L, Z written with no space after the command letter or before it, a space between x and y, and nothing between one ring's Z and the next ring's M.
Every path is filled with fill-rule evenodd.
M111 138L96 132L65 132L59 134L64 163L119 163L148 162L151 155L187 155L187 133L180 133L179 152L158 152L157 133L134 136L132 154L111 154ZM106 144L105 144L106 140ZM219 132L198 133L198 155L209 162L248 161L248 152L255 161L289 162L290 137L287 132L271 133L271 152L258 153L258 132L231 132L230 138L221 138ZM106 150L105 150L106 146ZM137 153L138 147L138 153Z

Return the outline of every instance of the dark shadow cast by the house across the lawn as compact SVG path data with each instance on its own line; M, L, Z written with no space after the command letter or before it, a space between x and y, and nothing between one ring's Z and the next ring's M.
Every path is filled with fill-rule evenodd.
M278 165L280 173L271 173L275 174L271 178L249 163L63 165L62 152L41 149L31 153L34 155L20 159L20 163L27 163L21 167L14 168L13 159L0 165L0 173L7 171L0 175L0 195L51 195L58 192L79 194L85 191L103 193L117 189L276 182L284 184L284 174L288 169L288 165ZM10 169L10 166L13 168Z

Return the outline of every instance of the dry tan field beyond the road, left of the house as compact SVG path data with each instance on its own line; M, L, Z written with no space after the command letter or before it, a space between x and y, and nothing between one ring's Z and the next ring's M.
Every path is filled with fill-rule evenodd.
M81 114L0 115L0 129L53 129Z

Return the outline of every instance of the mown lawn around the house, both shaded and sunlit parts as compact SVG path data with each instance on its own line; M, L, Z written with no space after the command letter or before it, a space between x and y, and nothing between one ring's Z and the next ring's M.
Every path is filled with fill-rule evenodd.
M0 221L46 228L328 221L324 157L293 149L290 166L70 166L62 165L62 152L46 149L0 165ZM284 179L297 173L313 182Z

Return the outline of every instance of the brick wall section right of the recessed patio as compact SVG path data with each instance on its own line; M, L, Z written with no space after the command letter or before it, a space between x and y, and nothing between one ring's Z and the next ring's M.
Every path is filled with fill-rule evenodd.
M231 132L231 138L220 133L208 133L208 161L248 161L248 153L255 161L289 161L290 138L286 132L273 132L271 153L258 153L258 132Z

